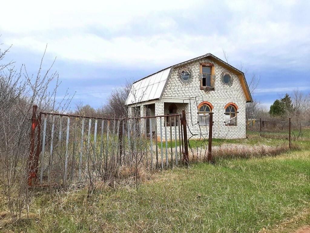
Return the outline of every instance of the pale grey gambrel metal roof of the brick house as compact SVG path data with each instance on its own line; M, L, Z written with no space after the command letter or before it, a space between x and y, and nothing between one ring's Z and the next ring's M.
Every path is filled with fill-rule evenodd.
M163 93L164 88L165 88L165 85L166 85L166 82L168 81L170 72L173 69L173 67L185 65L189 62L197 61L197 60L205 58L205 57L212 57L213 59L215 59L221 63L224 63L226 66L228 66L232 70L237 71L238 73L242 74L243 79L246 83L246 78L245 78L244 73L242 71L240 71L237 68L229 65L227 62L224 62L223 60L219 59L218 57L215 57L213 54L206 53L205 55L195 57L193 59L175 64L173 66L169 66L165 69L162 69L160 71L157 71L153 74L150 74L150 75L148 75L142 79L135 81L133 83L133 85L131 86L130 93L129 93L127 100L126 100L126 105L161 98L162 93ZM250 94L249 87L247 84L246 84L246 89L247 89L248 93ZM251 94L250 94L250 98L252 99Z

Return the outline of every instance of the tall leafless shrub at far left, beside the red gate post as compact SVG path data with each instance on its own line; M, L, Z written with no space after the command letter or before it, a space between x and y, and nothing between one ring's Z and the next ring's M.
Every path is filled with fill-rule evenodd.
M42 70L43 57L36 75L29 75L26 66L17 70L13 62L4 62L8 49L0 52L0 185L7 199L13 221L28 213L32 190L27 185L30 164L29 134L32 106L43 111L65 111L70 101L56 101L60 84L58 73ZM54 87L51 87L52 81Z

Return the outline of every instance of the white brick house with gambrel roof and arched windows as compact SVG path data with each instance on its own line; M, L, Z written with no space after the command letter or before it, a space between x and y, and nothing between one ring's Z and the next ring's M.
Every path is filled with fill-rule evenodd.
M137 108L141 117L147 108L151 116L185 110L188 138L208 135L211 111L214 137L245 138L246 102L252 102L252 97L244 73L207 53L134 82L126 105L130 115ZM161 125L157 119L157 135L163 121Z

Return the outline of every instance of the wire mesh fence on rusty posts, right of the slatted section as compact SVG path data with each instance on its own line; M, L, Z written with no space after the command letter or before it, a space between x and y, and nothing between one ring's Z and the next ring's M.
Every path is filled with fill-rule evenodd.
M198 139L188 137L189 162L254 158L277 155L289 149L310 148L310 127L307 121L298 124L291 118L252 119L241 126L226 126L224 136L218 123L210 120L209 125L209 133L201 134ZM236 137L234 127L244 130L245 136ZM209 135L212 135L211 139Z

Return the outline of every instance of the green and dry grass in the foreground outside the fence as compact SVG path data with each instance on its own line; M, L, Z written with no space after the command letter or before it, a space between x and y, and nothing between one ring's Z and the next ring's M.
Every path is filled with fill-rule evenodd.
M188 171L156 173L138 190L108 186L89 198L86 189L53 198L40 192L30 207L32 219L3 224L0 231L276 232L281 222L297 218L285 227L294 229L309 221L309 168L306 150L197 163ZM0 204L6 211L6 201Z

